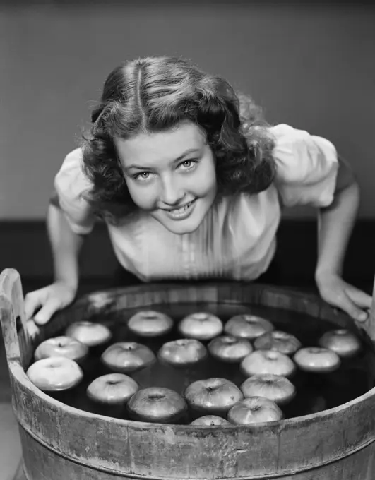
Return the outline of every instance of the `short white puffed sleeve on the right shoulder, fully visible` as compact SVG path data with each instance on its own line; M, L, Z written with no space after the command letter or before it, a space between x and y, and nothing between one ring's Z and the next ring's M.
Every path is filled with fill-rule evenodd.
M270 128L275 137L275 186L282 204L327 207L333 201L338 156L326 138L280 124Z

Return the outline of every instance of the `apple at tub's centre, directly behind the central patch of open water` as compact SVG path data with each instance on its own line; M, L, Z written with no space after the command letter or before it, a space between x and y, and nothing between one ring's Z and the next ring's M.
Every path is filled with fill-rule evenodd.
M194 338L180 338L167 342L157 352L160 360L173 366L190 366L206 358L206 347Z

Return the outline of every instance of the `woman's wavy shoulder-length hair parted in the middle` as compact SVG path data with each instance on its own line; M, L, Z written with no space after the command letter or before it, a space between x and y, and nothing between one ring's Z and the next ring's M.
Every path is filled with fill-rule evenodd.
M114 68L91 120L82 148L83 171L93 188L85 199L97 216L111 223L137 208L114 138L168 131L191 121L213 151L218 195L261 192L275 175L274 140L261 109L226 80L185 59L147 57Z

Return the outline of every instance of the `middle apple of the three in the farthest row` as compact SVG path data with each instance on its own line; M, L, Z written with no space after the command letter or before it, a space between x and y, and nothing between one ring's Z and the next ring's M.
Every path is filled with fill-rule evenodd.
M191 313L179 323L179 332L184 337L211 340L222 332L222 321L212 313Z

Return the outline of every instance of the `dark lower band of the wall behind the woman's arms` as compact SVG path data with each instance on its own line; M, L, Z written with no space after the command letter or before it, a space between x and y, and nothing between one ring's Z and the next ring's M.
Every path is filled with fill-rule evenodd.
M16 268L25 280L52 278L52 256L43 221L0 222L0 270ZM345 258L344 277L358 286L371 286L375 272L375 220L358 220ZM316 221L284 219L278 231L275 265L278 283L314 284ZM81 254L81 278L106 282L118 272L105 224L97 224ZM131 275L129 282L131 282Z

